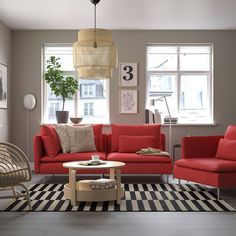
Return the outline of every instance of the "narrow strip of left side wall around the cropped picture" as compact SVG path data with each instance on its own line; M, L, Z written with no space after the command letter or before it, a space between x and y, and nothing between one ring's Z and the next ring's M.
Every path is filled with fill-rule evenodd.
M8 109L0 109L0 141L10 140L11 111L11 30L0 22L0 63L8 66Z

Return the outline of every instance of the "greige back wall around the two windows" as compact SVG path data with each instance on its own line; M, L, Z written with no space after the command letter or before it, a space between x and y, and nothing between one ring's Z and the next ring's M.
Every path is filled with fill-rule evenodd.
M41 118L41 46L43 43L72 43L77 31L14 31L13 32L13 134L12 140L26 150L26 111L22 105L25 93L37 98L30 112L30 146L33 160L33 136L39 132ZM213 43L214 44L214 115L216 126L176 126L172 128L172 143L192 135L223 134L228 124L236 123L236 31L113 31L119 49L120 62L138 62L139 113L119 114L118 69L110 84L110 115L112 123L144 123L145 109L145 44L146 43ZM168 128L163 127L167 134Z

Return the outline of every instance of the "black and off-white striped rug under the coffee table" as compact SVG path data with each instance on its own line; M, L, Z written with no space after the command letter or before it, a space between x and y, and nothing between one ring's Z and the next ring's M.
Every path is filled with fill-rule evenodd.
M120 205L114 201L80 202L71 206L64 198L63 184L34 184L29 188L32 211L235 211L224 200L217 200L213 190L200 185L125 184ZM96 190L95 190L96 191ZM10 200L0 211L28 211L27 201Z

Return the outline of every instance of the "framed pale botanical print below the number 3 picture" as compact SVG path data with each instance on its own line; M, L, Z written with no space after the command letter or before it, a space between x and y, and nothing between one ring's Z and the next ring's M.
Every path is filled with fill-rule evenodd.
M120 113L138 113L138 92L137 90L120 90Z

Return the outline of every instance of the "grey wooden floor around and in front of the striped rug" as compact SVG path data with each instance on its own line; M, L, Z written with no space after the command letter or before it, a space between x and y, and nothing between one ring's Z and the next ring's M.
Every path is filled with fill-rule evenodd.
M165 176L122 177L123 182L160 183ZM33 175L31 183L43 183ZM65 176L46 176L46 183L67 182ZM170 182L175 180L170 179ZM1 193L2 194L2 193ZM222 190L222 198L236 208L236 190ZM0 205L5 200L0 200ZM0 236L235 236L235 213L187 212L31 212L0 213Z

